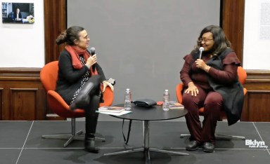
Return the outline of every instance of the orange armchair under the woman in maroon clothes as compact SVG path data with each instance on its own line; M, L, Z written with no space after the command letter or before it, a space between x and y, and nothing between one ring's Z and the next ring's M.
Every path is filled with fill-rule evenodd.
M243 67L238 67L237 69L237 73L238 73L238 80L239 82L243 85L245 83L245 79L247 78L247 73L245 72L245 69L243 69ZM183 83L179 83L176 86L176 98L177 101L179 103L182 104L182 90L184 89L184 84ZM247 89L244 88L244 95L247 93ZM203 112L204 112L204 108L200 108L199 109L199 114L200 116L203 116ZM225 111L221 111L221 116L220 116L220 120L226 119L226 113ZM184 137L187 135L181 135L181 137ZM245 139L245 137L241 137L241 136L234 136L234 135L217 135L216 134L217 139L221 138L221 139Z

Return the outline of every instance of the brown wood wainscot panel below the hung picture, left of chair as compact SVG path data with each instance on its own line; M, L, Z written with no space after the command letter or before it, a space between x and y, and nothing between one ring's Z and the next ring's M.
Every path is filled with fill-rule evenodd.
M46 119L38 68L0 68L0 120Z

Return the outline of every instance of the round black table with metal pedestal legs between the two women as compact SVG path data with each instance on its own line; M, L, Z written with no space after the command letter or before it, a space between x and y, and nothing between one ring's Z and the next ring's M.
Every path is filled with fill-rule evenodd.
M115 105L116 107L124 107L124 104ZM127 149L124 151L117 151L113 153L105 153L104 156L114 156L124 153L134 153L138 151L143 151L146 157L146 163L150 163L150 151L160 152L160 153L172 153L176 155L188 155L188 153L180 153L176 151L167 151L162 149L154 149L149 147L149 121L165 121L174 118L180 118L185 116L188 111L186 109L170 109L169 111L163 111L162 106L153 107L139 107L132 104L131 113L124 114L121 116L113 116L116 118L127 119L131 121L143 121L143 147L137 149Z

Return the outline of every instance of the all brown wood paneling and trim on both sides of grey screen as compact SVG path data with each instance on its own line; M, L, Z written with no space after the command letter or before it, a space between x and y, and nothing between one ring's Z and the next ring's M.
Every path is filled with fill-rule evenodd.
M66 0L44 0L45 62L58 60L56 37L66 29ZM221 0L221 26L243 62L245 0ZM0 68L0 120L46 120L51 111L39 79L41 68ZM270 71L246 70L242 121L270 121ZM58 119L58 118L57 118Z

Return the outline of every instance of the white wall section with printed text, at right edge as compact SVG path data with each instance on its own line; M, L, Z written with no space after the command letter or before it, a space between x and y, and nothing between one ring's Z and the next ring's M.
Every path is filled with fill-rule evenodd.
M245 0L244 69L270 69L270 0Z

